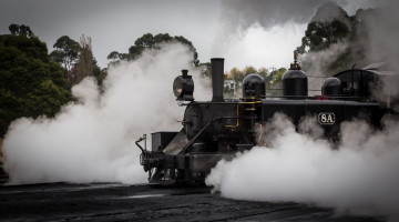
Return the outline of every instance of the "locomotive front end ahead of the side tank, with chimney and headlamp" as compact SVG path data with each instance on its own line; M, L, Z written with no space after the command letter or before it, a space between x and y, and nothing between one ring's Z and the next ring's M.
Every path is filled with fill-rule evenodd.
M265 81L257 74L247 77L244 99L225 100L224 59L212 59L211 64L212 100L194 101L194 81L182 70L173 83L176 100L186 105L182 130L152 133L151 151L140 147L141 164L151 183L203 182L219 160L231 160L254 145L253 128L259 119Z

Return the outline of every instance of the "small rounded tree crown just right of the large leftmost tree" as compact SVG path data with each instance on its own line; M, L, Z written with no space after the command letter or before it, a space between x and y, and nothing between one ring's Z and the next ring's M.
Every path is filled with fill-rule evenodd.
M62 64L65 72L70 72L78 59L78 42L68 36L63 36L57 40L53 48L55 48L55 50L50 53L51 60Z

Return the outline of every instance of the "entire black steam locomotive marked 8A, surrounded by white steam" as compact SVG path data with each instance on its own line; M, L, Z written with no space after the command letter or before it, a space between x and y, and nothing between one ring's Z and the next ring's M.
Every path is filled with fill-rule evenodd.
M255 129L269 121L275 113L285 113L295 124L301 118L316 118L324 137L336 140L339 124L352 118L367 117L378 125L389 104L370 98L372 82L378 75L367 70L348 70L328 78L321 95L308 97L308 79L295 62L283 75L283 97L266 98L266 84L258 74L243 81L243 98L223 97L224 59L212 59L212 101L194 101L194 82L183 70L173 83L174 94L186 101L183 129L180 132L152 133L152 149L142 148L141 164L154 184L204 181L211 169L222 159L259 144Z

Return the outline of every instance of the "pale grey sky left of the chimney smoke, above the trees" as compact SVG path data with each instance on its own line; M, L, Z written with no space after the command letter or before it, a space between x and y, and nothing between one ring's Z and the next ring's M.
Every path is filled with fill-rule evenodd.
M184 36L207 60L217 29L219 1L105 1L105 0L2 0L0 33L11 23L23 23L48 43L49 51L61 36L79 41L92 38L93 52L101 64L113 51L127 52L135 39L152 32ZM207 56L209 57L209 56Z

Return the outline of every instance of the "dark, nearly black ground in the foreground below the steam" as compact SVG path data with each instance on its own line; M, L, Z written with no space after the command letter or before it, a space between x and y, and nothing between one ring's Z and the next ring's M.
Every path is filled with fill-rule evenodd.
M229 200L205 186L33 184L0 186L0 200L1 221L386 221L298 203Z

